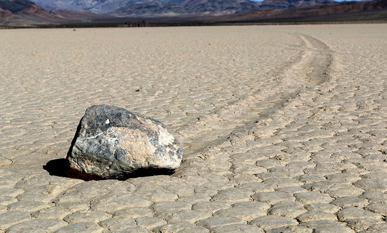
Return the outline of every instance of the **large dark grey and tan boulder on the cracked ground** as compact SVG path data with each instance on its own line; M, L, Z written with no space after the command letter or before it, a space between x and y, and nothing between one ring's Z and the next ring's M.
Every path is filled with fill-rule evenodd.
M160 121L123 108L93 105L79 123L67 160L83 174L120 179L139 172L174 172L182 150Z

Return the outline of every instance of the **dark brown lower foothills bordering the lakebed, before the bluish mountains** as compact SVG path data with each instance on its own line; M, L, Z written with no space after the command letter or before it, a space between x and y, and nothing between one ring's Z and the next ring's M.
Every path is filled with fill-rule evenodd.
M103 0L101 0L102 2ZM164 3L161 1L165 1ZM175 2L183 0L175 0ZM218 10L222 8L217 4L207 6L203 2L208 0L184 0L192 7L193 12L195 7L203 7L207 10ZM227 0L230 1L230 0ZM93 14L89 12L71 12L66 10L46 10L29 0L0 0L0 26L1 27L40 27L40 26L61 26L61 27L94 27L94 26L167 26L167 25L223 25L223 24L250 24L250 23L321 23L321 22L387 22L387 0L373 1L346 1L334 2L328 4L318 4L306 7L295 7L294 5L311 4L311 1L295 1L292 0L287 8L268 8L265 4L260 5L258 10L250 10L240 14L224 14L224 15L197 15L184 17L179 13L184 12L184 8L177 6L172 7L172 3L167 0L160 0L164 5L174 8L179 17L161 16L161 17L116 17L107 14ZM105 2L105 1L104 1ZM199 2L199 3L198 3ZM243 3L244 1L241 0ZM286 0L269 0L269 2L282 2L286 5ZM312 2L312 4L314 4ZM225 4L223 4L224 6ZM138 5L136 6L138 7ZM153 6L154 7L154 6ZM144 12L152 12L149 7L145 7ZM168 9L168 7L166 7ZM129 9L137 12L138 8ZM154 7L153 12L159 8ZM220 9L220 10L219 10ZM225 10L234 9L224 8ZM114 14L128 14L128 9L123 7L115 10ZM127 11L127 12L126 12ZM143 12L142 12L143 13Z

